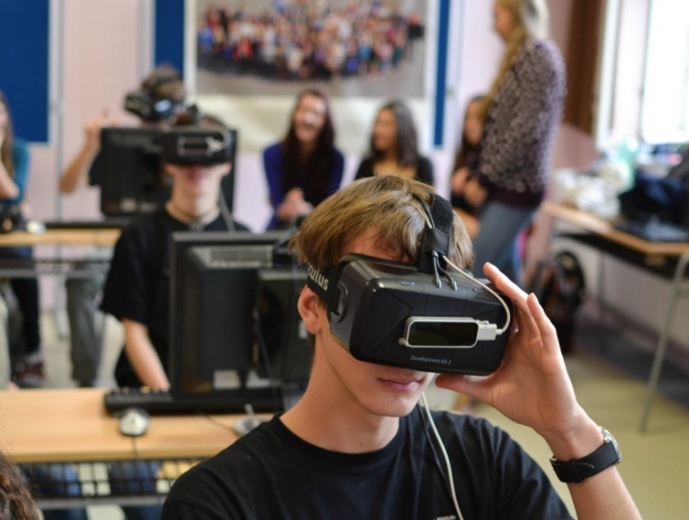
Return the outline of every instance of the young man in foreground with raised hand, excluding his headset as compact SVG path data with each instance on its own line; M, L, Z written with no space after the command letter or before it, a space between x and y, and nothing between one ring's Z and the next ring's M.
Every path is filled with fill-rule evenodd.
M355 181L304 219L292 249L321 273L348 253L417 265L429 223L419 200L431 206L434 196L430 186L394 175ZM449 213L446 256L457 269L471 268L471 239ZM436 385L533 428L557 461L614 453L594 466L595 476L569 484L578 518L639 519L615 465L617 445L578 405L543 308L493 265L484 272L514 302L503 362L489 377L443 374ZM485 419L419 407L434 374L355 359L334 339L334 318L308 284L298 309L314 349L303 397L182 474L163 520L571 518L546 473L506 432Z

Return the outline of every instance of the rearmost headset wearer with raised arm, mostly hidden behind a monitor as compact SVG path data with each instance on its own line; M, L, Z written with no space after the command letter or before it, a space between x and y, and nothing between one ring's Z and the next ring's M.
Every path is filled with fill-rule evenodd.
M143 125L160 125L174 121L175 114L185 111L185 85L179 72L168 65L161 65L151 72L141 84L141 90L129 94L125 109L137 115ZM109 111L90 120L84 126L85 139L77 154L59 179L59 191L70 194L85 180L91 186L100 184L101 128L113 126ZM102 251L110 256L111 251ZM68 279L67 310L69 317L69 357L72 378L80 387L92 387L101 365L101 340L96 334L95 314L97 298L103 279Z

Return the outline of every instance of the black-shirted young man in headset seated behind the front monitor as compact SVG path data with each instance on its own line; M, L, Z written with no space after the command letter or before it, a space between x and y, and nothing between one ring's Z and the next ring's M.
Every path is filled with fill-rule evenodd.
M124 228L105 281L101 311L124 325L115 368L120 387L168 389L170 237L175 231L248 230L222 204L220 182L232 168L232 134L217 120L166 129L164 172L173 177L164 207Z

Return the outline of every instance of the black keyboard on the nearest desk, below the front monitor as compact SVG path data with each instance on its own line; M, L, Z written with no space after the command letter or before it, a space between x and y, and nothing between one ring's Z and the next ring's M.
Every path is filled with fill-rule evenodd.
M257 412L284 409L281 388L247 388L222 390L202 396L173 396L169 390L114 388L103 398L105 409L116 413L130 407L145 409L152 415L185 415L193 413L245 414L246 405Z

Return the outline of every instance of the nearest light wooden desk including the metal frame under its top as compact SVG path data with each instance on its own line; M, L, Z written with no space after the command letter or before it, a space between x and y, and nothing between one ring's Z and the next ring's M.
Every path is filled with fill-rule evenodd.
M232 424L246 419L243 415L154 415L143 436L126 437L118 430L118 419L104 409L105 391L0 391L0 449L5 455L26 472L49 467L67 474L64 468L69 467L69 477L61 477L51 483L52 491L37 496L40 508L161 504L179 474L237 440ZM151 464L148 474L152 476L147 478L153 478L155 485L147 491L136 487L144 477L132 473L127 478L134 479L135 491L113 491L109 476L113 464ZM78 491L61 491L67 486Z

